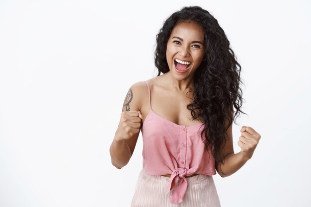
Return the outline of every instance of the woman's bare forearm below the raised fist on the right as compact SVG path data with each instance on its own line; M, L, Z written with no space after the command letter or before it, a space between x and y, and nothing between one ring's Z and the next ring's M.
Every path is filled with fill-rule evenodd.
M239 170L247 160L241 152L232 153L225 157L224 164L218 162L216 168L221 177L228 177Z

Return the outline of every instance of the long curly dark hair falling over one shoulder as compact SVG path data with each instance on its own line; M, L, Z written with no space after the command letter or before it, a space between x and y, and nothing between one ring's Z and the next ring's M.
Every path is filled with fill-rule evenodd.
M230 42L217 19L200 6L187 6L169 16L156 35L157 76L169 71L166 60L167 42L173 28L180 21L192 21L203 28L206 60L195 71L193 102L187 105L187 109L191 111L193 120L197 119L205 124L201 138L206 150L212 149L215 161L223 161L223 148L229 140L226 131L233 120L236 124L236 116L245 114L241 111L241 66L235 60ZM235 113L233 107L236 109Z

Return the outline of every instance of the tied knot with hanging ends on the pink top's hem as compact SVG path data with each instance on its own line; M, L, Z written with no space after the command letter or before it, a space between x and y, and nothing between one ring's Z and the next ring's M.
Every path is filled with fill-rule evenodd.
M172 192L172 195L169 198L171 204L181 203L184 195L186 194L188 183L185 175L187 171L188 170L186 168L178 167L176 170L172 172L170 176L169 183L166 189L166 194L168 194L170 190L172 190L177 184L177 186Z

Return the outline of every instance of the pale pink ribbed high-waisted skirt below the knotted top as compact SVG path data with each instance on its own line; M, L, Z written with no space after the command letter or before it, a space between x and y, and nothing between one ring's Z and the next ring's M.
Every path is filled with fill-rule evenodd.
M221 207L213 176L199 174L186 179L188 186L183 201L170 204L172 192L165 194L169 178L149 175L142 169L136 182L131 207Z

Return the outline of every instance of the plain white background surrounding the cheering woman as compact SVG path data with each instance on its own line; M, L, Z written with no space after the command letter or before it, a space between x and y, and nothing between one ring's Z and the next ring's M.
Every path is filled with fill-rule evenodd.
M309 207L311 2L1 0L0 207L129 207L142 137L121 170L109 146L129 87L156 76L155 37L186 5L218 20L241 64L233 125L260 135L222 207Z

